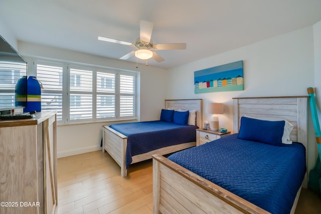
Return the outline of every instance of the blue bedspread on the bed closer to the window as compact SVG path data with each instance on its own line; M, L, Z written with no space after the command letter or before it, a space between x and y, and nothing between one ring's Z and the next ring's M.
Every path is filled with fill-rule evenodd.
M126 167L132 156L155 149L196 141L197 126L183 126L164 121L113 124L110 128L128 137Z

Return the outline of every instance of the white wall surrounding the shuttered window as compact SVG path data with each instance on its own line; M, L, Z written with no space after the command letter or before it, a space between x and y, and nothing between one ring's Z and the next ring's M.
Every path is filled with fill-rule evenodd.
M33 58L39 57L139 71L139 120L159 120L161 109L165 107L164 100L166 99L168 70L151 66L146 67L145 65L138 65L138 68L136 68L135 63L129 63L123 60L114 60L26 42L18 42L18 47L20 54L22 54L29 63L28 75L35 75L35 71L32 71L31 62ZM102 125L110 124L111 123L105 122L58 126L58 157L99 150L102 137Z

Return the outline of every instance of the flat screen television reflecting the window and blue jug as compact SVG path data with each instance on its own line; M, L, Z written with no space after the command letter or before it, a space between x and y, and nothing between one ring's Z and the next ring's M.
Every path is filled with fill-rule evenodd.
M0 36L0 112L26 106L27 61Z

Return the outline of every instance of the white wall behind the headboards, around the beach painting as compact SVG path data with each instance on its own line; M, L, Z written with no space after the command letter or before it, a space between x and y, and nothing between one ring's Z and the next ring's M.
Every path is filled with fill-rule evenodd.
M169 72L169 98L202 98L203 121L210 120L205 106L208 102L225 104L219 116L220 127L233 130L232 97L307 95L314 86L313 27L253 43L209 58L173 68ZM194 71L243 60L244 90L194 93ZM315 143L313 125L309 120L308 144ZM309 166L314 166L314 151L309 151Z

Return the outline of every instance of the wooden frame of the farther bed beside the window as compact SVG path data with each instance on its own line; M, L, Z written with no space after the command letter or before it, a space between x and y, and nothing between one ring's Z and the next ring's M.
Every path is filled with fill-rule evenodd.
M165 100L165 109L173 110L196 110L195 125L202 127L202 99L167 99ZM107 151L109 155L117 162L121 169L121 176L127 176L126 169L126 148L127 137L123 134L113 130L109 126L102 128L102 152ZM135 155L132 157L132 163L137 163L143 160L151 159L153 154L169 154L172 152L180 151L190 147L196 146L196 142L188 142L161 149L153 150L144 154Z

